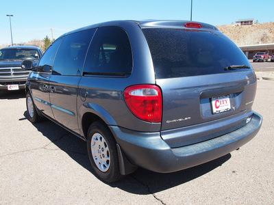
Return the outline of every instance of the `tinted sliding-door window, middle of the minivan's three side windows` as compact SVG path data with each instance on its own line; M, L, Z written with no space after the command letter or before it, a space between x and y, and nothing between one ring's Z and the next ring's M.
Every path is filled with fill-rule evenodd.
M52 74L80 75L94 33L95 29L91 29L64 37L54 61Z

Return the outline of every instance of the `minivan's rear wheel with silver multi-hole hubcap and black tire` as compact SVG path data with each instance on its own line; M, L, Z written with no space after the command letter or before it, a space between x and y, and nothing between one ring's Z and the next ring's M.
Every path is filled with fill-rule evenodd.
M116 142L105 124L91 124L88 129L87 148L92 169L101 180L114 182L121 179Z

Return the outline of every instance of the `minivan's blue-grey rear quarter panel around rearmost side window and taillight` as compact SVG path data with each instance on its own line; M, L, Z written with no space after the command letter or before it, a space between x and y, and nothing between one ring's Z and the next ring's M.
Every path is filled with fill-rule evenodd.
M129 77L92 75L82 77L77 97L79 127L82 128L84 113L90 112L98 115L108 125L142 132L160 131L160 123L145 122L136 118L129 111L123 97L123 91L130 85L155 84L153 62L142 30L136 23L130 21L114 21L100 25L100 27L105 26L119 26L127 32L132 46L132 74ZM86 94L86 99L83 96L81 98L84 94Z

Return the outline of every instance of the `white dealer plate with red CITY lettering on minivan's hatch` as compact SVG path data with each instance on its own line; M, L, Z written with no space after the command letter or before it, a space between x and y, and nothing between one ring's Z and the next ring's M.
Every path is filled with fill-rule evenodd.
M211 98L211 107L213 114L229 111L231 109L229 95Z

